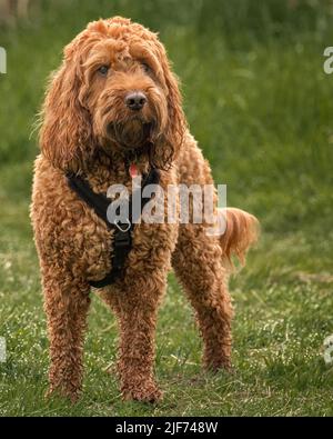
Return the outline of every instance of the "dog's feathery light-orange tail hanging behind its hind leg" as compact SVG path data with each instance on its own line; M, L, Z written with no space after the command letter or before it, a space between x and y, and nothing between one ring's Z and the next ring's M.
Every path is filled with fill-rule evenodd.
M224 225L225 229L219 238L223 250L223 263L233 268L232 256L235 256L244 265L249 248L258 240L258 219L235 208L219 209L218 216L220 225Z

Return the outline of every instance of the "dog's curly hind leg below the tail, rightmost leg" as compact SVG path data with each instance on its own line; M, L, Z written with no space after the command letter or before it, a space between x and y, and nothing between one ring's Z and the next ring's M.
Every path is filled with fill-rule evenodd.
M172 266L196 313L205 367L229 369L232 306L219 241L202 225L182 225Z

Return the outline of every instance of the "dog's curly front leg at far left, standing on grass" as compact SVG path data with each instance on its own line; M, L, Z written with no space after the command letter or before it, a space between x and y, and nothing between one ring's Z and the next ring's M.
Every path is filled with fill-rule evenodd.
M90 303L89 286L68 272L43 271L51 360L48 395L56 391L75 401L82 382L82 345Z

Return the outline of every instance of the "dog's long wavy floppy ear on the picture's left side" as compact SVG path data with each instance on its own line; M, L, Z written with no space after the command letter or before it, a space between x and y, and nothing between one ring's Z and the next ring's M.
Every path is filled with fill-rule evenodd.
M77 46L77 44L75 44ZM73 43L49 83L42 108L41 151L56 168L78 171L92 148L90 114L82 103L80 51Z

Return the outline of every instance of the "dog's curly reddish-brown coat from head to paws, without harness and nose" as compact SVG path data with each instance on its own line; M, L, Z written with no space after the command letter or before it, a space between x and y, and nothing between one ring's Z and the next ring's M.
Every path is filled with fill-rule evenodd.
M133 90L147 96L135 117L124 104ZM107 192L113 183L130 189L128 164L133 161L141 172L159 168L163 189L213 180L188 130L163 46L155 33L120 17L90 23L65 47L41 112L40 147L31 218L48 316L50 392L75 400L89 281L110 271L112 232L71 191L65 172L83 176L95 192ZM244 256L256 220L238 209L219 214L228 217L220 238L208 236L204 223L137 225L125 275L99 291L119 322L124 399L161 397L153 377L154 331L171 265L195 309L205 366L230 368L232 306L224 262L232 253Z

